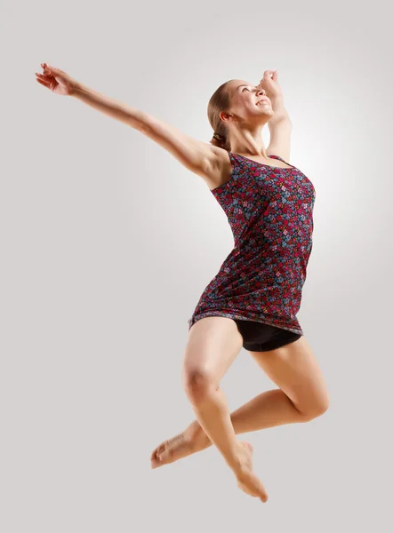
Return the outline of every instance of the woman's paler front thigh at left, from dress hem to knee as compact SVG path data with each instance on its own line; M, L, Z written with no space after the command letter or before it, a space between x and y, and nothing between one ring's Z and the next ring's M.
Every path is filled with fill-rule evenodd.
M183 355L183 378L203 375L219 386L242 347L243 338L231 318L201 318L188 331Z

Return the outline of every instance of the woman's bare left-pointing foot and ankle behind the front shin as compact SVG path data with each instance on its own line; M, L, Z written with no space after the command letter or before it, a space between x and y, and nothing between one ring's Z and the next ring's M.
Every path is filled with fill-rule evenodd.
M195 421L185 431L156 447L150 456L151 467L158 468L159 466L174 463L174 461L182 457L192 455L197 451L209 448L209 446L212 446L212 442Z

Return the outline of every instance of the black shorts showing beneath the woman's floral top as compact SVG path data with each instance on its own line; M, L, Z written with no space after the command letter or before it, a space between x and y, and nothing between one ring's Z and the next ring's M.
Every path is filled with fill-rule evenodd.
M243 347L250 352L268 352L276 350L301 338L301 334L283 330L277 326L270 326L262 322L251 320L233 319L237 324L237 330L243 337Z

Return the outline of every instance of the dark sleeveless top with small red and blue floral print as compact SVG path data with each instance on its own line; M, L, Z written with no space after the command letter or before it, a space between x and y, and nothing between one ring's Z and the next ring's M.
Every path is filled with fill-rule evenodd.
M312 249L315 188L293 165L282 169L231 152L229 159L229 180L211 192L235 247L199 298L188 330L205 316L226 316L303 335L296 314Z

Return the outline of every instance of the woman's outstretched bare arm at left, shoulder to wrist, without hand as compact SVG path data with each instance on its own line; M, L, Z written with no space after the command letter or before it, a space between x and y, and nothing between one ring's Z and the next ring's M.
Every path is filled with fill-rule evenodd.
M94 109L132 126L149 139L154 140L172 154L188 171L192 171L205 179L208 186L214 187L217 180L220 180L221 161L225 161L221 154L222 148L193 139L171 124L164 123L135 107L94 91L84 84L76 82L69 94L94 107Z

